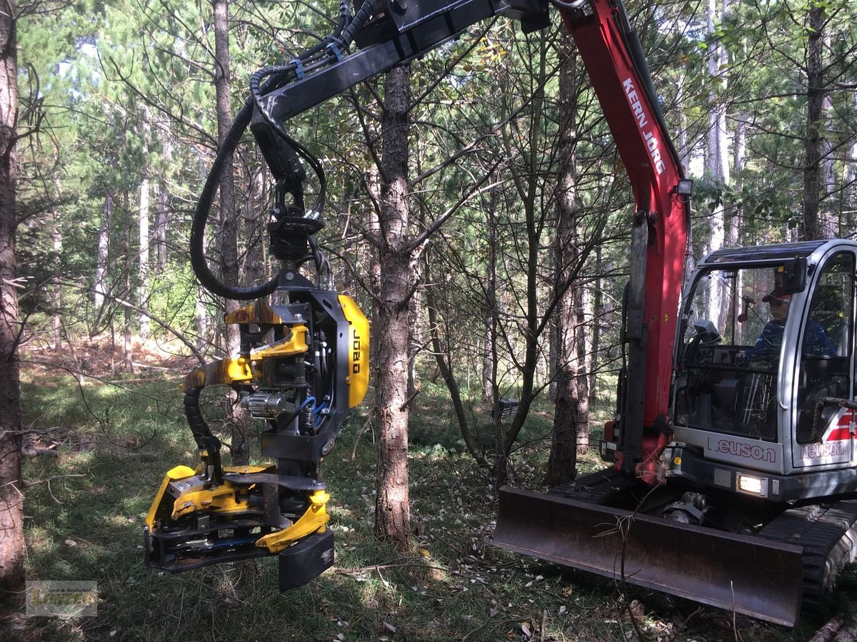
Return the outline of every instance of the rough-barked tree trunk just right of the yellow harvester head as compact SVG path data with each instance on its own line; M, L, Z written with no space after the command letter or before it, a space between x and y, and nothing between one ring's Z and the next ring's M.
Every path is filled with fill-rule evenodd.
M408 490L408 304L411 252L407 234L410 71L387 74L381 122L381 303L377 320L378 426L375 532L405 550L411 541Z

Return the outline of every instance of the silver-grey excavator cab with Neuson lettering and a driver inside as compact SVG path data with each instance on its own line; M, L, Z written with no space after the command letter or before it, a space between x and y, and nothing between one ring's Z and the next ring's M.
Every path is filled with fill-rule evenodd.
M722 250L699 265L675 342L671 452L682 465L668 464L668 477L699 480L710 462L783 478L857 463L842 407L854 399L854 251L815 241ZM739 478L731 490L747 492ZM821 492L762 485L778 501Z

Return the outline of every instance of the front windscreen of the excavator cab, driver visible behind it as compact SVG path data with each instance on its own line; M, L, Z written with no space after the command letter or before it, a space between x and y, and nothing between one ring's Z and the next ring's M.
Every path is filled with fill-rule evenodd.
M676 342L678 425L776 440L782 340L800 294L778 284L783 271L783 265L699 270Z

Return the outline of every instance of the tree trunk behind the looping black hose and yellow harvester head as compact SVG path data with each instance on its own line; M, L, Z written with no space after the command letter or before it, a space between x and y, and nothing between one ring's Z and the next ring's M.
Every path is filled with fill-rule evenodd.
M229 75L229 2L213 0L214 8L214 88L217 94L218 142L223 146L232 126L232 98ZM238 221L235 206L235 166L232 156L226 159L220 175L220 267L226 285L237 286L238 275ZM237 301L226 301L226 312L237 310ZM237 324L225 329L226 354L236 355L241 348ZM247 421L241 406L231 394L227 407L231 426L232 463L243 466L249 463Z

